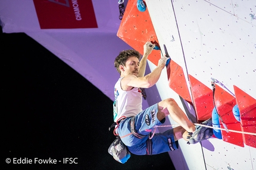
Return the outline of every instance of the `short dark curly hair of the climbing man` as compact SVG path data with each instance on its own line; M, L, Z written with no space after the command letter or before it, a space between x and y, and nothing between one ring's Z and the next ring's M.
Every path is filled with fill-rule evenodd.
M135 56L137 57L139 60L141 59L141 54L139 54L138 51L136 50L124 50L121 51L119 53L119 55L115 58L115 68L117 69L117 72L120 73L121 75L121 71L119 69L120 65L125 66L126 65L126 61L129 59L129 57Z

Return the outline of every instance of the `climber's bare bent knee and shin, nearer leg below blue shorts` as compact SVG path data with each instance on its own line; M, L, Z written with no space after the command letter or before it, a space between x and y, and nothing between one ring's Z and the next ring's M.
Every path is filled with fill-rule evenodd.
M176 101L172 98L158 102L158 120L163 120L170 114L171 118L180 124L188 133L195 131L195 125L188 119L186 114L182 111Z

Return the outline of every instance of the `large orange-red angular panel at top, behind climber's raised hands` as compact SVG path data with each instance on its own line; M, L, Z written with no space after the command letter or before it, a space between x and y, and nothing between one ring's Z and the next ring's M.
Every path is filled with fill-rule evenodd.
M136 4L136 0L128 1L117 36L133 49L143 54L143 45L146 41L155 40L158 42L158 39L148 9L145 12L141 12ZM148 56L148 60L157 65L160 57L160 50L153 50Z

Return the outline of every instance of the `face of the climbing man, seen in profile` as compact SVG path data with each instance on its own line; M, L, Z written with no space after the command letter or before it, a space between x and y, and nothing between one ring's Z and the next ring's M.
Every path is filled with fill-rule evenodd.
M139 59L135 56L129 57L124 68L124 76L139 75Z

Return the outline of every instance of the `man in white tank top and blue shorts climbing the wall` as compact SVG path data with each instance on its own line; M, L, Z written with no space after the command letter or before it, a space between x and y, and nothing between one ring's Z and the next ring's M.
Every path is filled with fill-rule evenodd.
M115 58L115 68L120 78L114 87L114 121L119 123L115 132L124 145L135 155L154 155L177 149L177 140L185 139L188 143L198 143L213 135L211 128L195 126L172 98L160 101L142 111L140 88L150 88L160 78L168 57L161 57L155 68L145 74L146 60L154 49L150 41L143 46L141 58L136 50L125 50ZM156 133L149 139L154 126L160 126L166 116L179 123L179 127ZM204 121L211 126L211 119Z

